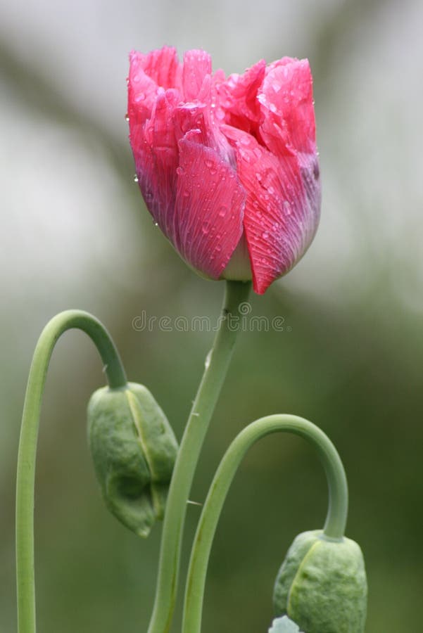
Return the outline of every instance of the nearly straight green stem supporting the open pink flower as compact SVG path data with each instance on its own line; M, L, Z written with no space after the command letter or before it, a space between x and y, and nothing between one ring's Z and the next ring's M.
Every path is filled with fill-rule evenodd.
M179 447L166 502L156 599L149 633L168 633L175 609L179 558L187 501L198 456L222 388L239 331L239 305L248 299L251 283L227 281L222 316L206 369Z

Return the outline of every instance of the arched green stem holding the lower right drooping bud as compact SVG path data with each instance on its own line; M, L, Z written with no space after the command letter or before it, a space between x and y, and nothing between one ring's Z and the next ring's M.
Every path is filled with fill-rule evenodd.
M191 550L184 602L182 633L200 633L203 594L210 549L229 486L248 449L261 437L277 431L287 431L308 440L317 450L326 471L329 486L329 509L324 535L341 539L348 513L348 487L341 459L332 442L311 422L289 415L260 418L239 433L225 453L215 474L203 506Z

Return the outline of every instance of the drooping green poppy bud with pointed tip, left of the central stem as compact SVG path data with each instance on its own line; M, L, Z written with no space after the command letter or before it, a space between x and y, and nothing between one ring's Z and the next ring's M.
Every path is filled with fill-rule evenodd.
M88 405L88 440L108 509L146 537L162 519L177 441L168 419L143 385L102 388Z

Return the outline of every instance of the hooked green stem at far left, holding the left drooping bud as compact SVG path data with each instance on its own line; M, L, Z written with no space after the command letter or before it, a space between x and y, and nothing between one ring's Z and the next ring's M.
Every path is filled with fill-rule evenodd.
M93 340L111 388L126 385L125 371L106 328L94 316L68 310L54 316L35 347L27 383L20 430L18 476L16 481L16 581L18 592L18 633L34 633L34 480L39 416L46 373L53 347L66 330L78 328Z

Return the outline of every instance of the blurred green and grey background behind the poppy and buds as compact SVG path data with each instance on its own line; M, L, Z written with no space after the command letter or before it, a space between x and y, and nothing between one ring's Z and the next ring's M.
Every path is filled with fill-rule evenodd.
M134 317L217 316L222 283L198 279L146 212L127 142L127 53L202 47L215 68L308 57L315 77L322 222L308 255L252 314L201 456L201 501L234 435L263 414L320 425L343 458L348 536L365 552L367 633L422 629L423 5L400 0L23 0L0 15L0 630L13 633L15 462L27 371L53 314L94 312L133 381L182 435L211 333L137 331ZM160 526L147 541L103 508L85 409L103 384L87 338L57 346L36 493L43 633L146 630ZM203 631L265 632L293 537L322 525L327 492L305 442L263 440L227 499ZM189 506L184 564L198 507ZM175 631L178 627L175 627Z

